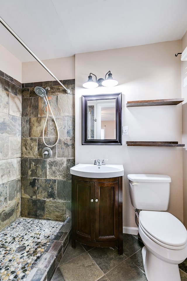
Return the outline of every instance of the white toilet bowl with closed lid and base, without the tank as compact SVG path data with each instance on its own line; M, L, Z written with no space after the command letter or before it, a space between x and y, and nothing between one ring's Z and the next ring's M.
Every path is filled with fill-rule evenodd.
M181 281L178 264L187 256L187 232L172 214L140 211L143 265L148 281Z

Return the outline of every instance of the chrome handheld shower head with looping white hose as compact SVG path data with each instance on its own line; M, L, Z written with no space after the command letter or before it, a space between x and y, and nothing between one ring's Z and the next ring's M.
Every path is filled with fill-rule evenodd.
M44 142L44 144L45 144L47 147L53 147L53 146L55 146L55 145L58 143L59 132L58 132L58 126L57 126L57 124L56 124L55 117L54 117L54 115L53 115L53 112L52 112L52 110L51 110L51 106L50 106L50 104L49 104L49 100L48 100L48 98L46 97L49 90L50 90L49 87L46 87L45 89L42 88L42 87L35 87L35 88L34 88L35 93L36 93L39 97L42 97L42 98L43 98L43 100L44 100L44 102L45 102L45 104L46 104L46 107L47 107L47 116L46 116L46 121L45 121L44 128L43 128L43 134L42 134L42 136L43 136L43 142ZM54 122L55 122L56 130L57 130L57 141L56 141L56 143L53 144L53 145L47 145L47 144L45 143L45 140L44 140L44 131L45 131L45 127L46 127L48 115L49 115L48 106L49 106L49 109L50 109L51 114L52 114L52 116L53 116L53 120L54 120Z

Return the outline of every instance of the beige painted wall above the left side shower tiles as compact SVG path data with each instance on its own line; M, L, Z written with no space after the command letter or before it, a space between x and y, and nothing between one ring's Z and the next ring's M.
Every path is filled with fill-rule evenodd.
M15 56L0 45L0 70L22 83L22 65Z

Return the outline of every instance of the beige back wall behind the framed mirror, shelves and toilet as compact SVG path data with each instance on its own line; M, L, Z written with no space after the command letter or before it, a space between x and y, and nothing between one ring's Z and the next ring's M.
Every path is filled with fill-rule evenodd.
M177 106L126 107L128 100L181 97L181 61L175 53L181 41L77 54L75 56L75 163L92 163L91 158L123 164L123 226L136 227L130 202L127 174L167 174L172 178L169 212L183 221L182 148L127 147L127 140L179 141L181 104ZM90 72L104 78L108 71L119 81L115 88L84 89ZM122 126L129 135L121 145L81 144L81 96L122 92Z

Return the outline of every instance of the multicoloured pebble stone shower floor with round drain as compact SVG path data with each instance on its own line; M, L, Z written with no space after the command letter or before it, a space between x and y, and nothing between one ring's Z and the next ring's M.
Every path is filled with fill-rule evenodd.
M19 218L0 233L0 281L24 281L63 222Z

